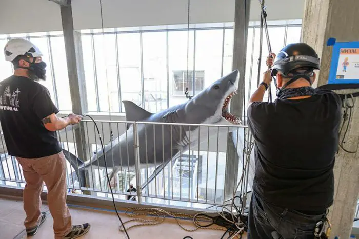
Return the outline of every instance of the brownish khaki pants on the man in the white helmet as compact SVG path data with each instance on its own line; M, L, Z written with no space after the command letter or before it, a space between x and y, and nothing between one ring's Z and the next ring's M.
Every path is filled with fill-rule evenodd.
M71 215L66 205L66 159L63 152L41 158L16 157L23 167L26 181L23 199L26 228L36 226L41 216L41 198L45 182L47 201L54 224L55 238L61 238L71 230Z

